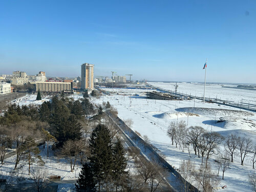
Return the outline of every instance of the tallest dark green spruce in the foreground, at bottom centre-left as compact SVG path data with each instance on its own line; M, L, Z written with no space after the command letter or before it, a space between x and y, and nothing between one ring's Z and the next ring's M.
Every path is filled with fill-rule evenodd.
M90 152L89 160L100 191L102 181L111 178L113 170L111 136L105 125L98 124L93 130L90 137ZM105 183L108 188L109 182L106 181Z

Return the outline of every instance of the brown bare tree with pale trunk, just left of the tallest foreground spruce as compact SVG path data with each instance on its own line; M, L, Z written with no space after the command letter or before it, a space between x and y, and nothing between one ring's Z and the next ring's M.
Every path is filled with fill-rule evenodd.
M82 140L68 140L63 144L61 148L61 156L64 156L70 162L70 171L73 172L76 164L76 160L84 148Z

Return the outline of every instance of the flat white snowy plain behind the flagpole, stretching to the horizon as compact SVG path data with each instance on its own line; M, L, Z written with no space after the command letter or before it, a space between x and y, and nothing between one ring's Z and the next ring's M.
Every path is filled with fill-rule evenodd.
M175 91L174 85L176 83L165 83L165 82L148 82L152 86L163 88L170 91ZM178 92L193 96L203 96L204 84L196 82L179 82ZM256 90L245 90L245 89L233 89L233 88L222 88L222 86L236 87L236 85L230 84L206 84L205 97L230 100L235 103L241 102L243 99L244 103L256 104Z

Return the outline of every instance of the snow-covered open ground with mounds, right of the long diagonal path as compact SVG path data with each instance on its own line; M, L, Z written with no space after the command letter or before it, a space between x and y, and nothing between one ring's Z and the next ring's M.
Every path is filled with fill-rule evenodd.
M108 91L111 92L111 89L108 89ZM187 126L202 126L207 131L216 131L223 136L237 134L241 137L248 137L256 144L255 113L246 112L244 110L240 111L236 108L224 105L219 106L214 103L203 103L200 100L170 101L146 99L144 91L141 90L130 91L132 96L117 95L114 89L113 92L114 93L110 96L104 96L104 98L101 97L99 99L92 98L92 100L98 104L101 104L102 101L109 101L111 105L117 108L118 116L121 119L131 118L134 122L131 128L139 132L142 136L147 135L151 143L166 156L165 160L176 168L179 168L183 160L188 159L190 159L195 166L199 166L201 164L201 158L195 155L191 155L190 158L188 151L185 150L185 152L181 152L179 147L176 148L171 145L170 138L166 135L166 131L169 123L172 121L184 120L187 122ZM233 94L235 95L235 93ZM232 96L229 96L228 98L231 97ZM242 98L243 97L240 96L239 99ZM194 110L191 110L191 108ZM232 121L217 122L221 117L227 119L231 118ZM223 150L223 147L221 147L221 150ZM190 149L190 152L193 154L192 149ZM214 158L215 157L212 156L209 162L212 169L214 169L217 174ZM231 163L229 169L225 172L224 180L219 176L221 182L220 186L227 186L227 188L222 190L229 192L250 191L248 175L252 172L254 172L254 170L252 169L250 158L245 160L243 166L240 165L239 157L234 158L234 163Z

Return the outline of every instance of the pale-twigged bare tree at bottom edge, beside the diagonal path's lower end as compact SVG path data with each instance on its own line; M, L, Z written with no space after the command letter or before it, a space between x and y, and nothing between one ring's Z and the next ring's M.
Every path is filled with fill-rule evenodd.
M194 180L193 173L195 172L195 165L190 160L183 161L180 164L180 174L182 177L179 178L181 181L181 190L184 192L190 191L190 184Z

